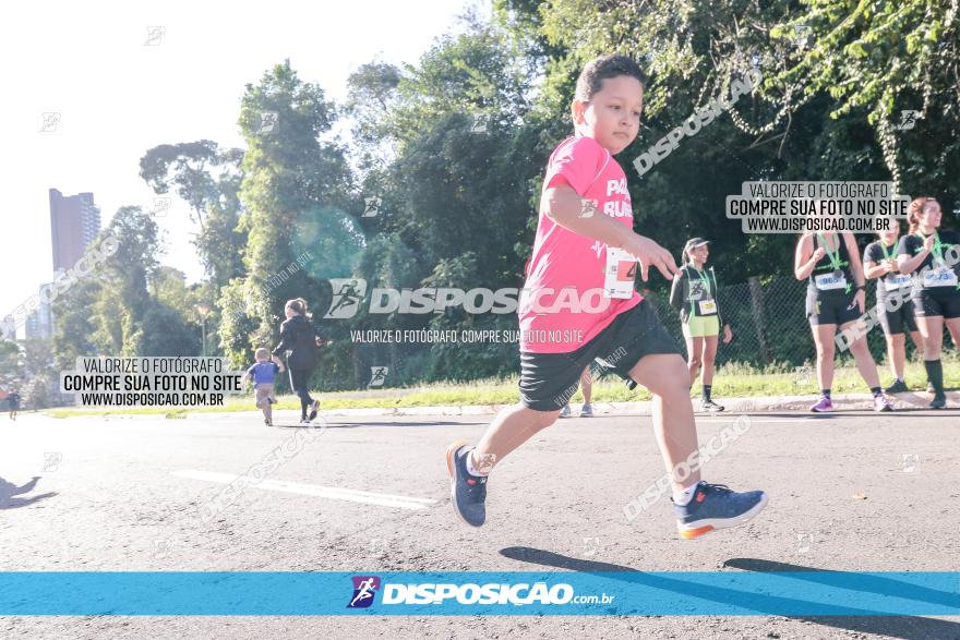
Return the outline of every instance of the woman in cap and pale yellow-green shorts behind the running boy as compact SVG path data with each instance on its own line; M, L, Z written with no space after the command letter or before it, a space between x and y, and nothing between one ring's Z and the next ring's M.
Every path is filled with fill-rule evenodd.
M692 238L683 247L683 267L673 278L670 289L670 304L680 312L683 323L683 336L686 338L687 369L691 373L691 386L697 379L700 365L704 367L701 411L723 411L723 407L713 402L710 397L713 384L713 363L717 359L717 342L720 326L723 326L723 343L733 339L730 325L720 319L720 306L717 302L717 274L713 267L709 271L704 264L710 255L707 247L709 240Z

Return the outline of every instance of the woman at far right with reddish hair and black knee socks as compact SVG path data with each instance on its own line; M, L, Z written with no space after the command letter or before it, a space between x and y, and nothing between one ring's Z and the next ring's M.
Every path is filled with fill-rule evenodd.
M923 364L933 386L931 408L947 406L940 349L944 325L953 343L960 339L960 234L938 231L940 205L932 197L917 197L908 208L910 233L900 239L897 264L913 274L913 313L923 336Z

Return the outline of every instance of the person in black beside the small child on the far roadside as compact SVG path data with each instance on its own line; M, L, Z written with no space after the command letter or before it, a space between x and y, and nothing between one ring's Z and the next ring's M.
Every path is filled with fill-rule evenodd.
M322 341L317 337L316 327L310 321L307 301L302 298L288 300L284 311L287 319L280 325L280 343L273 350L273 354L280 355L284 351L290 351L287 369L290 371L290 386L300 397L300 424L310 424L316 418L320 400L310 397L308 385L313 370L316 369L317 347Z

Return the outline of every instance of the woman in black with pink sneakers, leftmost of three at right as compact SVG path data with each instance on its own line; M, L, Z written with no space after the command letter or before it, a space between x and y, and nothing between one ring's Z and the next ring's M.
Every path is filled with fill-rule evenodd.
M817 346L817 379L820 399L811 411L833 410L830 387L833 384L833 354L837 328L852 327L866 307L866 286L856 241L849 231L805 233L796 243L793 273L797 280L807 278L806 315ZM861 336L850 345L856 370L874 395L874 411L892 411L884 396L877 365Z

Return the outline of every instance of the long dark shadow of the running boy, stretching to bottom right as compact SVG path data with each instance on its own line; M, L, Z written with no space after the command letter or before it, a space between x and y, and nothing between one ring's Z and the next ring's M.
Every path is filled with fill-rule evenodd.
M619 572L622 575L608 577L615 578L616 580L623 580L625 582L653 587L656 589L662 589L665 591L674 591L676 593L687 594L695 591L697 597L704 600L712 600L721 603L737 602L737 600L742 600L744 595L742 591L723 589L721 587L705 587L704 584L694 584L692 582L687 582L681 577L669 578L662 575L647 573L632 567L624 567L623 565L598 563L595 560L584 560L527 546L511 546L501 550L500 553L507 558L521 563L530 563L547 567L556 567L559 569L568 569L572 571L580 571L584 573ZM826 572L812 567L788 565L784 563L759 560L753 558L733 558L727 560L724 563L724 566L757 572L811 571L811 580L817 580L819 573ZM845 573L844 571L831 572L839 576L843 576ZM804 579L802 573L797 575L796 578ZM835 581L831 583L836 584ZM892 580L890 578L864 577L862 575L850 573L850 583L851 588L853 588L852 585L855 584L856 589L861 589L863 591L898 595L900 597L909 597L911 600L919 600L922 602L931 602L937 604L946 603L951 605L956 605L957 602L957 597L955 594L917 587L908 582L900 582L899 580ZM910 640L926 640L927 638L960 638L960 624L948 620L938 620L920 616L868 615L869 612L860 612L854 608L849 609L849 615L842 616L784 616L780 612L784 611L783 605L790 603L795 604L795 601L757 593L749 594L751 608L771 616L788 617L796 620L806 620L817 625L825 625L828 627L847 629L850 631L859 631L862 633L886 635L893 638L907 638Z

